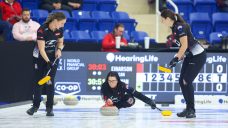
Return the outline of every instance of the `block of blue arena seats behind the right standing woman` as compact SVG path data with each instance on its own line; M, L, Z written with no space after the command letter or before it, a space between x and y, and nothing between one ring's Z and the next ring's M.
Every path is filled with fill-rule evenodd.
M210 43L221 42L217 40L216 33L228 32L228 13L219 12L215 0L173 0L173 2L178 6L179 14L190 23L197 39L204 39ZM167 4L167 7L174 10L170 4Z

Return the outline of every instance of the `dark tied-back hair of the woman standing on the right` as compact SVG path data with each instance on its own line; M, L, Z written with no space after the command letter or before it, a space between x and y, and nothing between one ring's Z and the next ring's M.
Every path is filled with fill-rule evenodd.
M169 9L164 9L162 12L161 12L161 17L163 18L167 18L169 17L171 20L173 20L174 22L180 22L180 23L186 23L184 21L184 19L179 15L179 14L176 14L174 13L172 10L169 10Z

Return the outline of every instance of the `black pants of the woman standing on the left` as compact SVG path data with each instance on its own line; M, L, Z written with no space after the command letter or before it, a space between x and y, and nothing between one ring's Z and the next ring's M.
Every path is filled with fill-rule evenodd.
M48 54L48 57L51 62L54 62L55 55ZM33 106L39 108L40 102L41 102L41 95L42 90L45 88L46 94L47 94L47 102L46 107L47 108L53 108L53 99L54 99L54 78L57 70L58 60L56 61L56 65L51 69L50 76L51 76L51 84L44 84L44 85L38 85L38 81L42 79L47 71L47 63L46 61L39 56L39 58L34 58L34 66L35 66L35 82L36 85L34 86L34 97L33 97Z

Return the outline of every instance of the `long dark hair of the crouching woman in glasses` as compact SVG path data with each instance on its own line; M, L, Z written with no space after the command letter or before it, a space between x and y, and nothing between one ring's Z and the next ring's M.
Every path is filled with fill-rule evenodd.
M117 83L117 90L121 90L123 88L123 86L125 86L126 84L124 82L122 82L120 80L120 76L117 72L114 72L114 71L110 71L105 79L105 82L102 84L101 86L101 95L103 95L104 93L109 93L112 89L111 87L109 86L109 83L108 83L108 78L109 77L116 77L118 83Z

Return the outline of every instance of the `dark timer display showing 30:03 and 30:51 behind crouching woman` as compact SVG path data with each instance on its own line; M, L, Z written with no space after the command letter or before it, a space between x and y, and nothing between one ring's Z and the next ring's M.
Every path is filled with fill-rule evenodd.
M135 86L135 74L134 66L132 64L99 64L89 63L87 65L88 91L100 92L101 85L105 82L106 76L110 71L118 72L121 81L128 85ZM133 82L132 82L133 81Z

